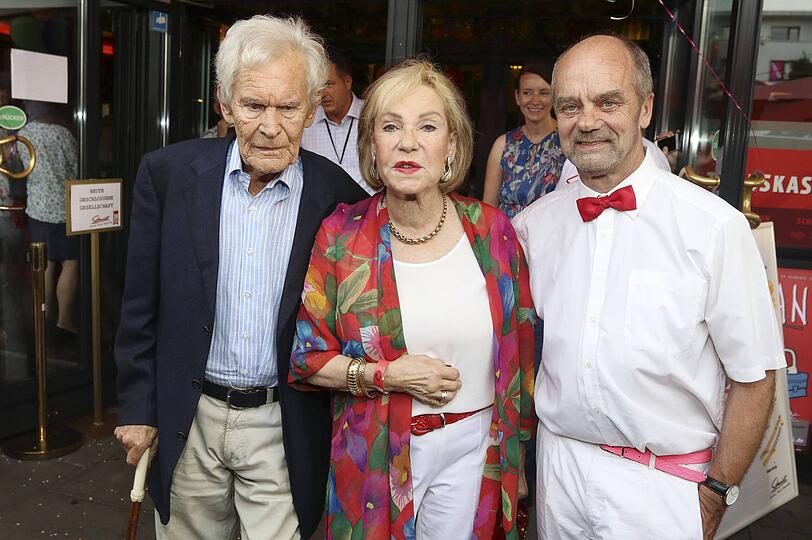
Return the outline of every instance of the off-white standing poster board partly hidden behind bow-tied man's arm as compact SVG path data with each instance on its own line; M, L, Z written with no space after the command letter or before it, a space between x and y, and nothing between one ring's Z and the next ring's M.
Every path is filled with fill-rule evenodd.
M778 265L775 259L775 237L772 223L762 223L753 231L775 308L775 323L780 325L781 296ZM717 532L727 538L798 496L798 475L792 444L792 421L787 395L786 370L776 372L773 412L756 457L744 476L739 500L728 508Z

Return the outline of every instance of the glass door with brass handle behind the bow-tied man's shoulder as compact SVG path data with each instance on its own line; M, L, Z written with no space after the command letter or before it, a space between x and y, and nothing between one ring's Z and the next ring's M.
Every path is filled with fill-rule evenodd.
M692 16L680 14L688 4L676 2L675 14L693 42L676 24L667 41L667 54L680 59L668 88L687 103L678 166L742 208L761 1L697 0Z

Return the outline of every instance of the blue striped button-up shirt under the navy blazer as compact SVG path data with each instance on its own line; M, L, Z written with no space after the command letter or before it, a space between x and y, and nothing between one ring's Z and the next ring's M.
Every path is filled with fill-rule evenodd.
M226 158L220 203L220 263L206 380L276 386L276 322L302 197L302 162L255 197L237 142Z

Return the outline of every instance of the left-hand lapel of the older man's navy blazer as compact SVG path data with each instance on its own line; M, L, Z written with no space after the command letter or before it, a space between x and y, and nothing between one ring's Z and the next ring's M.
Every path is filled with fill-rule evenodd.
M217 296L217 268L220 260L220 203L226 157L234 137L223 139L217 152L201 153L192 162L197 177L187 186L184 196L197 264L203 276L209 313L214 318Z

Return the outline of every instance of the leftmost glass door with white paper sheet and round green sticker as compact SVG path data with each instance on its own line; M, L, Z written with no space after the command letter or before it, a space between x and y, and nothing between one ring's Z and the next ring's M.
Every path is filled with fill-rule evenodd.
M38 6L38 4L40 6ZM47 5L46 5L47 4ZM65 181L78 174L76 2L6 2L0 9L0 106L24 111L18 129L2 129L0 173L0 437L30 429L33 414L13 414L34 399L31 242L45 242L47 373L58 389L82 378L79 354L79 265L76 237L65 235ZM38 64L62 66L50 86L22 73ZM14 70L12 70L12 64ZM6 109L8 110L8 109ZM23 137L33 149L14 141ZM36 155L36 165L25 169Z

